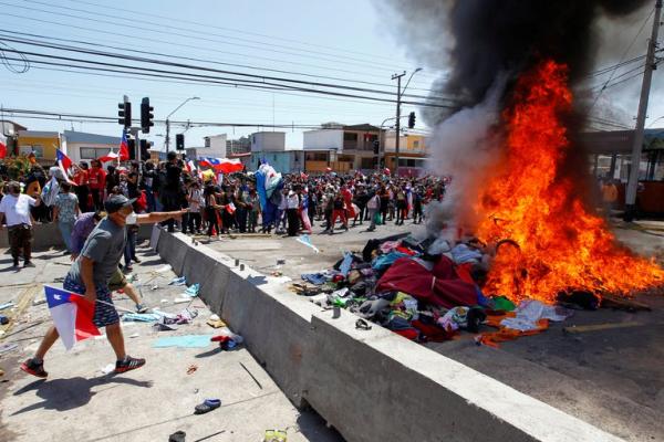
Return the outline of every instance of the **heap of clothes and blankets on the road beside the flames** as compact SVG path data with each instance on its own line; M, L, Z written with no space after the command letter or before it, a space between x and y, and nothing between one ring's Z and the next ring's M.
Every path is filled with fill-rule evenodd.
M572 315L561 305L485 295L491 255L476 238L450 244L402 234L370 240L361 255L344 253L333 269L303 274L311 285L292 288L324 308L345 308L418 343L448 340L466 330L478 334L478 345L497 346Z

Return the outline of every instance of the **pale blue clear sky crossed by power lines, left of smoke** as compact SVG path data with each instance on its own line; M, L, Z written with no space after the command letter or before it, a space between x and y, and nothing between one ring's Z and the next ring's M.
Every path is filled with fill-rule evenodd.
M183 8L183 4L187 7ZM377 8L384 6L378 1L352 0L194 0L187 3L174 0L0 0L0 15L3 17L6 31L372 82L382 85L366 87L394 91L391 75L403 70L412 71L416 63L408 60L404 45L395 40L394 33L390 31L391 23L384 21L385 14ZM17 49L40 50L10 44ZM394 105L390 103L374 104L345 98L325 99L303 93L284 94L116 78L39 67L33 65L27 73L15 74L0 66L0 102L3 107L115 116L117 102L122 101L123 94L127 94L134 104L134 117L141 98L149 96L158 119L165 118L190 96L199 96L201 99L187 103L172 119L377 125L395 112ZM232 66L216 67L264 73ZM439 71L424 67L411 83L412 93L426 95L425 90L440 74ZM295 76L273 72L269 74ZM335 80L303 78L340 83ZM411 110L416 109L404 106L404 113ZM38 130L71 129L73 125L75 130L106 135L118 135L121 131L116 124L13 119ZM173 128L173 133L180 130L181 128ZM256 128L190 128L186 139L188 146L196 146L203 143L201 138L206 135L227 133L229 137L239 137L255 130ZM164 127L156 126L149 138L156 145L162 145L164 138L155 135L164 133ZM288 130L287 134L288 146L301 146L300 131Z

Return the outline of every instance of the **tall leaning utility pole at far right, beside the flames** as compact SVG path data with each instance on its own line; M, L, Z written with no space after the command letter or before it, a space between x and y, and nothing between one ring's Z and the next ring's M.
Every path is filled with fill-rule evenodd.
M634 129L634 144L632 145L632 165L630 167L630 179L627 180L627 190L625 196L624 220L627 222L634 221L634 215L636 213L636 190L639 189L641 150L643 149L643 133L645 129L645 118L647 114L647 102L650 98L653 71L656 69L655 50L657 48L661 17L662 0L656 0L655 18L653 20L653 33L647 45L645 71L643 73L643 83L641 85L641 101L639 102L639 114L636 116L636 127Z

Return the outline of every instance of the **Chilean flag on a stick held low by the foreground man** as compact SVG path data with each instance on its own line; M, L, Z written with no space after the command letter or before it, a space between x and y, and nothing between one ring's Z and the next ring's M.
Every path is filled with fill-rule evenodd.
M44 285L44 293L53 325L68 350L79 340L101 335L92 320L94 317L93 303L77 293L49 285Z

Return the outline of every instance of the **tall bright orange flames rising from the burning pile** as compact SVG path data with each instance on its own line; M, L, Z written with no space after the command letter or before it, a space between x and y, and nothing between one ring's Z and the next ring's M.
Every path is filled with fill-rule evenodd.
M552 302L560 291L629 295L664 283L664 271L618 244L558 176L570 149L567 66L541 63L519 78L515 98L502 114L507 156L475 208L483 241L513 241L499 246L487 292Z

